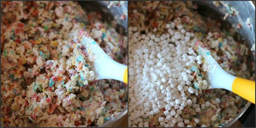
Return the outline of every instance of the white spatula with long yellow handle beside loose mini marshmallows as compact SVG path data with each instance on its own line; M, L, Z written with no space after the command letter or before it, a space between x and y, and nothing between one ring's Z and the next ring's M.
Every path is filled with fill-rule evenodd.
M235 77L225 72L214 60L210 52L201 47L195 47L197 53L203 57L203 71L207 71L208 89L226 89L255 104L255 81Z

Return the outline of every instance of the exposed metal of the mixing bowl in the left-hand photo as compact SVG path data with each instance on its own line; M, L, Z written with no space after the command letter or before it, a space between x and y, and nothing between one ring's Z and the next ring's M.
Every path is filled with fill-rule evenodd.
M125 1L125 6L119 7L111 7L110 9L107 8L107 5L104 1L79 1L79 4L87 11L98 11L102 14L102 19L105 21L111 21L115 19L114 17L121 17L123 11L127 12L128 9L128 2ZM126 35L128 30L128 18L126 17L124 20L118 20L121 30L116 28L119 33ZM100 127L128 127L128 119L125 118L128 116L128 108L124 109L117 117L113 120L110 120ZM123 126L124 119L127 119L127 126Z

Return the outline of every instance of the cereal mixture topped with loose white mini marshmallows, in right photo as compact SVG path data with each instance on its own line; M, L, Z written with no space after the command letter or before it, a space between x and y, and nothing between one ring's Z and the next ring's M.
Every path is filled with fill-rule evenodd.
M251 80L255 73L234 28L221 30L197 8L191 1L129 2L129 127L223 127L247 103L228 90L204 90L201 43L226 72Z

